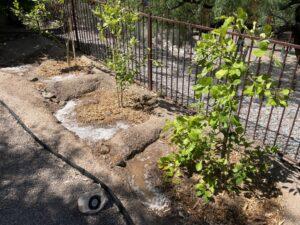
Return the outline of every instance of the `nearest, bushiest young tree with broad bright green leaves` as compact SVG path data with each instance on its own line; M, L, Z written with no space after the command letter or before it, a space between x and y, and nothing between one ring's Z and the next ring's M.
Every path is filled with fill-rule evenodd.
M246 13L239 9L236 16L223 19L223 25L203 34L196 46L194 60L202 68L194 86L198 112L169 123L171 142L178 152L159 160L169 180L180 181L184 174L196 177L196 193L206 201L221 191L237 192L251 183L252 177L268 170L268 155L277 150L275 146L254 146L245 137L237 113L242 80L245 96L264 98L270 106L286 106L290 93L278 89L267 74L251 74L232 35L228 35L233 30L257 32L255 23L252 30L244 25ZM265 30L270 33L268 27ZM261 33L261 40L255 43L253 54L258 58L269 55L267 33ZM201 97L208 93L211 108L206 112Z

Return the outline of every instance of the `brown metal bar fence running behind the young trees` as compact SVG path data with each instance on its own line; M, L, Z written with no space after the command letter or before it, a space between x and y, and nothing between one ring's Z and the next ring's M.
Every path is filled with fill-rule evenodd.
M97 24L101 21L94 16L94 7L95 1L65 1L64 18L72 18L71 38L76 41L78 48L86 54L105 60L110 57L112 37L108 33L104 40L99 39ZM139 72L136 76L137 82L180 106L189 107L195 101L192 86L196 82L196 74L201 71L192 60L195 44L201 39L202 33L210 30L210 27L140 13L135 32L123 33L122 48L129 51L129 38L126 37L135 36L138 44L133 51L138 63L132 61L129 62L129 66ZM63 29L57 35L66 38ZM300 45L271 40L271 57L256 58L252 51L255 48L254 41L259 38L234 32L228 35L232 35L236 42L243 40L250 46L240 49L249 65L249 72L270 74L278 82L278 87L289 87L294 91L288 107L268 107L265 101L243 96L245 82L242 82L238 114L245 125L247 135L259 140L261 144L280 146L282 154L299 162L300 59L296 56L296 51L300 51ZM282 67L274 65L275 57L280 59ZM209 94L204 96L202 101L209 110Z

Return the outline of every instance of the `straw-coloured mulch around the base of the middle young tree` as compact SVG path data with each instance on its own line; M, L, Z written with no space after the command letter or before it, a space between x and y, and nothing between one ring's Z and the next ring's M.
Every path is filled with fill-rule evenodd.
M149 119L149 113L133 108L139 96L129 92L124 95L124 107L118 106L117 94L114 90L101 90L90 93L83 99L83 104L76 108L77 121L84 124L113 124L126 121L139 124Z

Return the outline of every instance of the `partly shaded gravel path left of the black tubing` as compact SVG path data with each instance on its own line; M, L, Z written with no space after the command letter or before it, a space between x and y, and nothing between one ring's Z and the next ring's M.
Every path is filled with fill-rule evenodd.
M0 224L123 224L115 207L86 216L77 199L95 184L41 149L0 106Z

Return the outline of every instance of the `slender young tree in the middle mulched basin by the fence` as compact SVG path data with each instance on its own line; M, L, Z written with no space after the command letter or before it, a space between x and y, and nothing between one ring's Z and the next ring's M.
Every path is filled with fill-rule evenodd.
M135 37L130 40L126 33L132 33L135 24L138 21L137 12L122 5L120 0L108 0L105 4L99 5L94 14L100 19L98 30L100 38L103 38L109 32L111 34L113 46L111 49L111 58L108 59L108 67L115 72L115 80L117 86L117 95L119 106L123 107L124 90L133 83L137 71L130 69L128 62L134 60L133 49L137 44ZM122 41L128 41L129 51L124 51Z

